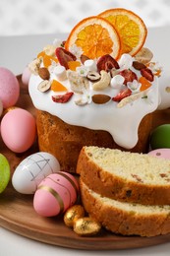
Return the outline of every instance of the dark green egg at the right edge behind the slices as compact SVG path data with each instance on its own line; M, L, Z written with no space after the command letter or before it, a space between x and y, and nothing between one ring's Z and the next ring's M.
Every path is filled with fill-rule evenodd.
M150 146L152 150L170 149L170 124L156 127L150 135Z

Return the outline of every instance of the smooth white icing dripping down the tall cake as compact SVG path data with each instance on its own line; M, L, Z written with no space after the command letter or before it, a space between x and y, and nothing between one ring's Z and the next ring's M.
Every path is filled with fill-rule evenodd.
M136 73L138 73L137 70ZM50 80L52 81L53 79L56 79L56 76L51 71ZM136 146L138 142L138 129L142 118L157 108L160 99L157 78L154 78L149 90L141 93L138 99L132 100L123 107L118 107L118 102L113 100L105 104L96 104L88 100L90 103L80 106L75 103L80 97L78 94L74 94L66 103L57 103L52 100L52 96L56 95L56 93L50 90L44 94L37 90L37 86L41 81L41 78L36 75L31 75L29 80L29 95L37 109L56 115L72 125L105 130L112 135L118 145L126 149L132 149ZM62 84L70 91L68 80L63 81ZM89 93L86 96L105 94L113 97L118 92L118 89L113 89L110 86L105 90L97 92L93 91L90 87Z

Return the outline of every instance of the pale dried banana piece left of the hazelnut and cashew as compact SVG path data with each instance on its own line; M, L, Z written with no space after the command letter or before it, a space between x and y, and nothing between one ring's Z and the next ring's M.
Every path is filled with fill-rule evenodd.
M77 72L68 72L71 90L77 94L83 94L89 87L89 82L85 77L80 76Z

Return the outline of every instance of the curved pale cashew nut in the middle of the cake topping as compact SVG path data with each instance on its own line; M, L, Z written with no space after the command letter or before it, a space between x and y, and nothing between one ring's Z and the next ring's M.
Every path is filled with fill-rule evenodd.
M92 85L92 89L94 91L100 91L100 90L106 89L110 85L110 80L111 80L110 75L104 70L101 70L100 74L101 74L101 79Z

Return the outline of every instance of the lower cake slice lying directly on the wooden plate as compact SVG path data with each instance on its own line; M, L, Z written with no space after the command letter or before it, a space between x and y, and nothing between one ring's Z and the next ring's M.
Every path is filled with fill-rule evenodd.
M87 213L106 229L123 235L155 236L170 232L170 206L144 206L103 197L82 181Z

